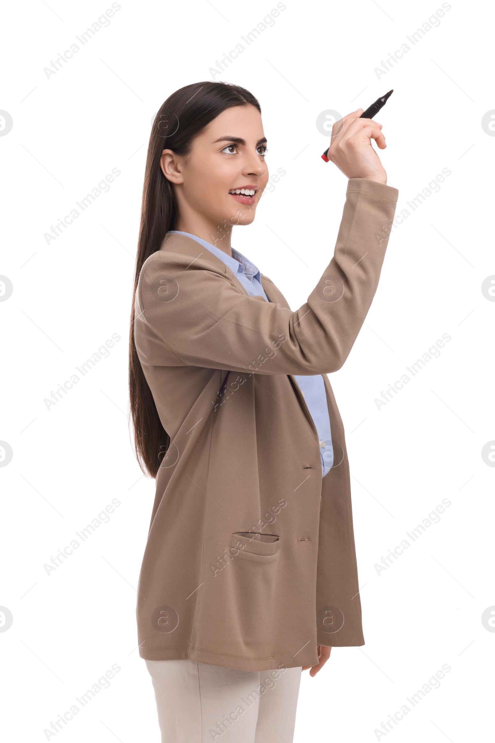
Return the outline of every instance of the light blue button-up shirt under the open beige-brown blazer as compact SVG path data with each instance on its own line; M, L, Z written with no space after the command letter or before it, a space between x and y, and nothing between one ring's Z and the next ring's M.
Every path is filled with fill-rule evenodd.
M195 235L191 235L191 233L180 232L179 230L170 230L170 232L175 235L186 235L186 237L190 237L200 245L203 245L206 250L217 256L220 261L223 261L232 270L232 273L237 276L237 279L239 279L249 296L263 296L266 302L269 302L261 285L258 267L249 261L246 256L243 256L242 253L239 253L238 250L232 247L231 258L231 256L228 256L227 253L224 253L216 245L206 242L206 240L202 240ZM304 395L304 400L306 400L306 405L311 413L315 429L318 432L321 476L324 477L333 464L332 433L330 431L330 416L328 414L327 392L325 391L324 380L321 374L298 374L294 375L294 378Z

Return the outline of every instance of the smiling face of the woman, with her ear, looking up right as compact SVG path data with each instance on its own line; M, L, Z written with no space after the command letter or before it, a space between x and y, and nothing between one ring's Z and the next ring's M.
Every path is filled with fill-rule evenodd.
M199 221L219 239L234 224L251 224L268 181L258 109L227 108L194 137L191 150L187 162L170 149L163 150L161 160L165 177L175 185L179 223ZM236 193L241 189L248 193Z

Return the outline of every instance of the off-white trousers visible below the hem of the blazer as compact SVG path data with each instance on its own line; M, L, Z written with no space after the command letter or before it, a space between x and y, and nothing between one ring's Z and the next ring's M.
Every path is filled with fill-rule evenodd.
M162 743L292 743L301 666L238 671L196 661L145 661Z

